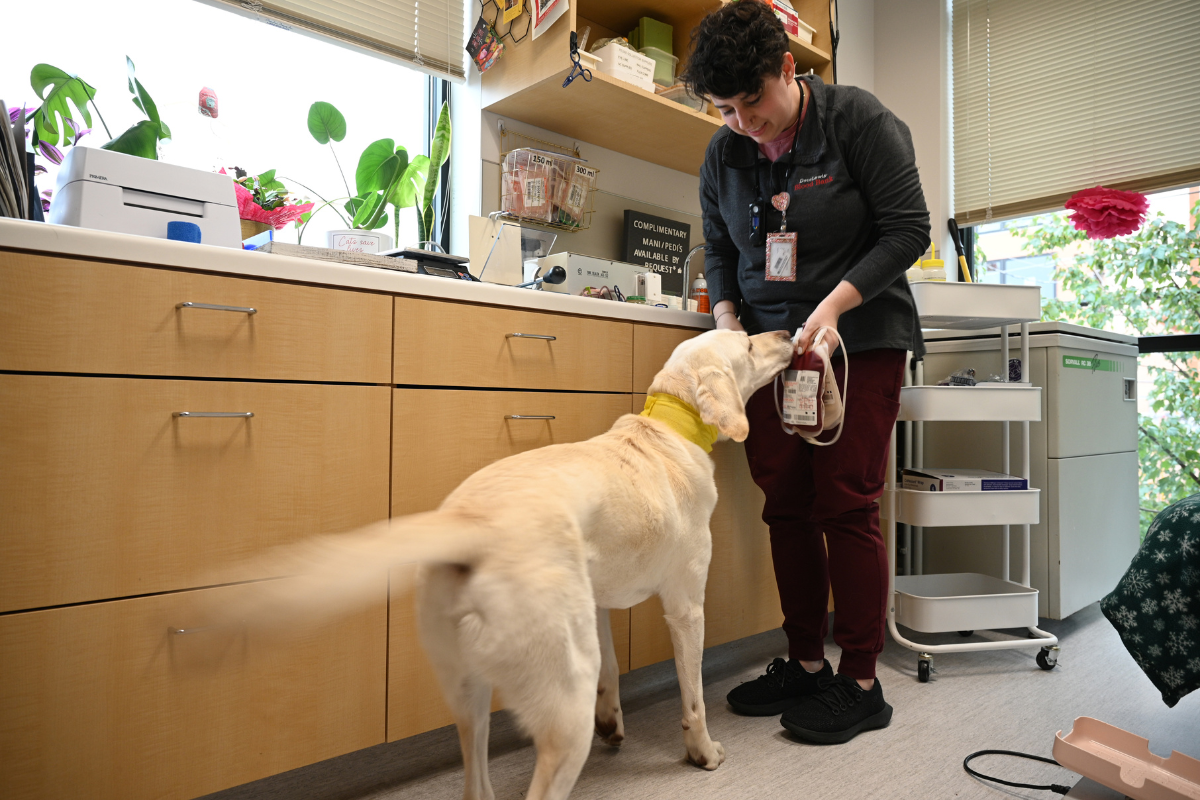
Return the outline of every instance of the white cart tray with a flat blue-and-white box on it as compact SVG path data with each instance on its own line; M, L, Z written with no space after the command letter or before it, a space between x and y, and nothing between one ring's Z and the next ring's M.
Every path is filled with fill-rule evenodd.
M1040 489L1009 492L918 492L895 489L896 522L923 528L947 525L1036 525Z

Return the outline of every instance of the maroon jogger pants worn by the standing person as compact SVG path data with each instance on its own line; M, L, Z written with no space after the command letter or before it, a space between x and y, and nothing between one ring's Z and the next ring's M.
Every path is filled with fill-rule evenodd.
M845 428L828 447L784 432L773 384L746 404L746 457L767 495L762 519L770 528L788 657L824 657L832 585L833 639L841 648L838 672L858 680L875 676L875 660L883 651L888 557L877 500L900 411L905 357L894 349L851 354ZM844 368L839 355L839 385Z

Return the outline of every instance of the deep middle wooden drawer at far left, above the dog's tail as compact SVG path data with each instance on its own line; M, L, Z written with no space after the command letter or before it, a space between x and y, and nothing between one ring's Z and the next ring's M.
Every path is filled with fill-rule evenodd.
M268 577L239 561L385 518L390 393L0 375L0 612Z

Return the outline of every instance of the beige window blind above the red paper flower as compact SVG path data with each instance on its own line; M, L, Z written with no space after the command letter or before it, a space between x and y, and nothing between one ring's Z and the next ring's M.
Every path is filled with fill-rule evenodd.
M1200 2L954 0L959 224L1200 182Z

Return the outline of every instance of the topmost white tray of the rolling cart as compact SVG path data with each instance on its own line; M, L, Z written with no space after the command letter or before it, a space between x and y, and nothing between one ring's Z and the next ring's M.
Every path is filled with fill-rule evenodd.
M1042 319L1042 289L998 283L908 284L922 327L982 330Z

